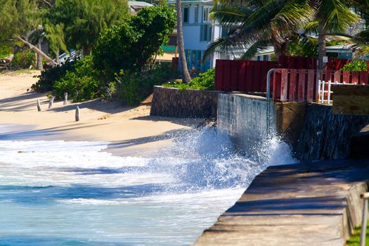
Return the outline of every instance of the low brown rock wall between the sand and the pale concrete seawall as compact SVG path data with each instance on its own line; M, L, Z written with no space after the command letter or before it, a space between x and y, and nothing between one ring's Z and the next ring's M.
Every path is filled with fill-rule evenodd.
M155 86L150 115L162 117L216 117L220 91L185 90Z

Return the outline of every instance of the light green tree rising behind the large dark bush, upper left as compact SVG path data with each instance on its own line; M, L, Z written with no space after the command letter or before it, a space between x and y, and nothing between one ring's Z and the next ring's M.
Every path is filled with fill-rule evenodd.
M52 36L60 39L56 42L59 48L63 48L63 27L67 47L82 49L84 55L89 55L100 32L121 20L127 10L125 0L56 0L46 18L54 26ZM53 35L57 33L60 35Z

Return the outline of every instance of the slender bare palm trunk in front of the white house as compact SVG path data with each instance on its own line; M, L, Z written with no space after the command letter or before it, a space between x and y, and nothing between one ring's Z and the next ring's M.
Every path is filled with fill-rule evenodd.
M181 0L176 0L176 12L177 12L177 42L179 50L179 64L181 65L183 82L189 83L191 81L191 77L190 73L188 72L186 55L184 52Z

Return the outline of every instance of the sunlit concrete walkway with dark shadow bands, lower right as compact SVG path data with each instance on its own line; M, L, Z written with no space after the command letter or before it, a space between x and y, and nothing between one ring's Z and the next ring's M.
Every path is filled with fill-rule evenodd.
M368 181L369 160L269 167L195 245L344 245Z

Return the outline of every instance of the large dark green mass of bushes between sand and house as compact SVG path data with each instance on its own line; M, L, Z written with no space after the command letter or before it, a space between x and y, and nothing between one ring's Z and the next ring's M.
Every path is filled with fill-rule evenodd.
M124 15L101 31L91 56L41 72L32 89L52 91L56 98L67 92L74 101L118 98L129 105L139 103L154 85L178 76L169 66L155 65L174 25L174 11L163 6Z

